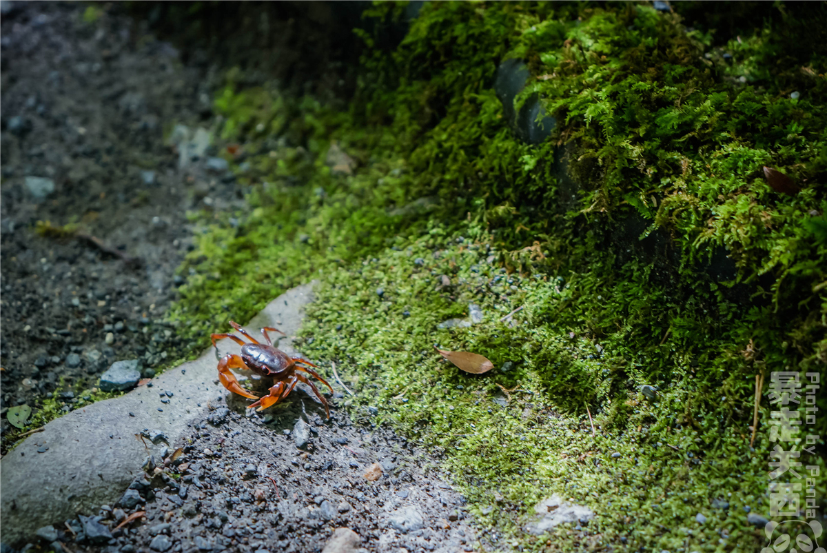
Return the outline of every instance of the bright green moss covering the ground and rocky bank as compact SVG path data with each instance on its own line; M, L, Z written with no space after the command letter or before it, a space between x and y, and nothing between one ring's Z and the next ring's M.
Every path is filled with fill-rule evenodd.
M202 349L227 320L320 276L304 353L328 376L337 363L357 418L377 406L442 455L489 544L754 551L766 541L744 507L767 515L772 445L765 397L749 447L755 376L824 375L827 362L827 65L790 46L795 18L779 21L716 44L645 5L434 2L391 52L362 33L347 113L231 74L216 107L245 151L247 166L231 159L250 209L193 214L203 234L170 318ZM514 138L492 89L509 56L532 73L518 102L539 94L559 122L539 146ZM334 141L351 175L327 166ZM774 192L765 165L803 190ZM675 255L653 265L619 247L612 232L630 216ZM705 274L715 247L733 281ZM734 301L733 286L755 301ZM483 322L437 328L471 302ZM496 368L460 373L434 345ZM524 534L551 493L598 517Z

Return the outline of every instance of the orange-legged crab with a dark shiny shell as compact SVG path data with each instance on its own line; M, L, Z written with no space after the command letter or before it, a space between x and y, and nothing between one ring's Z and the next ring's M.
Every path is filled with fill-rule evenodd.
M313 393L316 394L319 401L322 402L324 411L327 413L327 418L330 418L330 407L327 404L327 399L325 399L322 393L318 391L318 387L316 387L312 381L308 380L308 377L305 377L303 374L299 374L299 372L308 373L310 376L316 378L319 382L322 382L325 386L330 388L330 392L333 392L333 387L328 384L327 381L316 371L314 371L313 368L311 368L318 368L318 365L310 363L307 359L290 357L287 353L284 353L280 349L276 348L270 340L270 336L267 334L268 330L278 332L282 335L284 335L284 332L280 329L275 329L272 326L265 326L261 329L261 334L264 334L267 344L261 344L245 329L242 329L241 325L238 325L232 320L230 321L230 325L232 325L232 328L243 334L246 339L249 339L251 344L247 344L235 334L210 334L210 338L213 340L213 347L215 347L216 340L222 338L232 339L232 341L241 346L241 355L227 353L227 355L222 357L218 362L218 379L224 387L227 388L227 390L237 393L239 396L258 400L255 403L251 403L247 406L247 408L256 408L256 411L261 411L267 407L275 405L285 397L288 397L290 392L293 392L293 388L296 387L296 384L299 382L304 382L310 387L311 390L313 390ZM251 373L261 375L261 377L272 378L274 384L270 387L270 395L265 397L256 397L250 392L247 392L243 387L241 387L241 384L238 383L238 379L231 372L230 369L233 368L241 369L243 371L250 371Z

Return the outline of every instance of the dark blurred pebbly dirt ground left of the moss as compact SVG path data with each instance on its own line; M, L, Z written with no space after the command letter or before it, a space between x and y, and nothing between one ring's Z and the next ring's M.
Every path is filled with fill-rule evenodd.
M181 163L163 139L173 124L208 127L215 67L183 65L114 7L84 9L3 6L2 411L61 381L92 387L116 360L146 370L174 354L160 318L192 247L186 211L241 202L232 175L208 168L214 147ZM38 221L79 224L111 252L42 236Z

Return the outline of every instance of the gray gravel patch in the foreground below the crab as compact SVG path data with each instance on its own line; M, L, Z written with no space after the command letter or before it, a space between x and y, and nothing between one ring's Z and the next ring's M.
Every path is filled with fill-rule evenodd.
M438 474L423 473L428 457L403 438L354 426L338 410L327 421L309 397L280 404L270 424L241 409L195 421L115 509L73 520L77 538L63 523L41 529L42 545L56 539L75 552L165 553L471 551L476 544L463 498ZM299 419L309 429L304 450L284 434ZM385 467L375 481L364 476L371 464ZM139 511L146 517L117 528Z

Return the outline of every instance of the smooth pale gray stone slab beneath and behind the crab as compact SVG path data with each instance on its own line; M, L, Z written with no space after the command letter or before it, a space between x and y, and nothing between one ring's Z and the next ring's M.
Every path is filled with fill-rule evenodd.
M298 286L271 301L246 329L255 336L262 326L275 326L288 335L279 348L298 355L290 347L290 337L299 330L304 305L313 301L314 284ZM237 353L238 345L223 339L218 350L221 355ZM146 456L157 458L167 447L161 440L156 444L145 440L145 445L137 436L142 430L162 432L171 449L192 430L187 425L203 416L210 401L230 394L216 383L217 364L210 348L200 358L155 377L152 387L142 386L122 397L71 411L8 452L0 460L2 540L21 541L45 525L91 513L104 503L117 503L142 473ZM167 397L170 402L160 402L163 391L172 392ZM37 453L41 445L49 449Z

